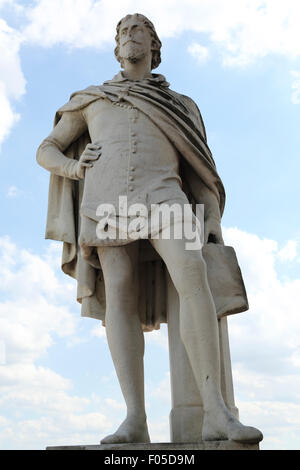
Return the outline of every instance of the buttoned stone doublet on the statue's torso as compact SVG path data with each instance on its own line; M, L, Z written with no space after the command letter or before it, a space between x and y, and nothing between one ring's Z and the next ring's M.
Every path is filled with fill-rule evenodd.
M127 207L180 202L188 204L181 189L179 155L168 138L141 111L119 99L100 99L82 111L92 142L102 146L101 156L86 170L81 203L79 243L83 247L120 245L130 238L102 240L96 234L100 204L120 215L119 197ZM104 206L103 206L104 207ZM107 219L108 224L111 219Z

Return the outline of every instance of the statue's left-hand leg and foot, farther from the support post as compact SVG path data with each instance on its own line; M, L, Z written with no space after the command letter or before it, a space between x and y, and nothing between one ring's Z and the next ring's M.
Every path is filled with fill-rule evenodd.
M137 310L138 243L98 248L106 293L109 349L127 405L127 417L102 444L150 442L144 403L144 335Z

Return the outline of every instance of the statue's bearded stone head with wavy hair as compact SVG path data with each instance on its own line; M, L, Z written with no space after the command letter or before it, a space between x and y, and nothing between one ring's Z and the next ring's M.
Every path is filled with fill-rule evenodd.
M146 16L140 13L127 15L119 21L116 29L115 56L122 67L124 67L123 58L138 60L147 52L147 48L152 52L151 70L159 66L161 41Z

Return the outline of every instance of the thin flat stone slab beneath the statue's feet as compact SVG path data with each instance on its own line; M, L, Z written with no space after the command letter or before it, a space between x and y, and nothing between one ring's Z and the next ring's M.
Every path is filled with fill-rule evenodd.
M176 450L259 450L258 444L240 444L234 441L206 441L197 443L177 443L160 442L153 444L102 444L102 445L78 445L78 446L53 446L46 450L132 450L132 451L155 451L163 450L166 452Z

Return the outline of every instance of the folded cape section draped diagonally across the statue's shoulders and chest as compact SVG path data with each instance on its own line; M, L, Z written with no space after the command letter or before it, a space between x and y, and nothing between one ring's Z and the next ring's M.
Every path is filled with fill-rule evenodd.
M129 88L130 94L127 96L126 90ZM225 190L207 145L200 111L196 103L188 96L181 95L169 87L157 87L147 82L138 84L128 84L124 80L106 82L103 85L89 86L73 93L70 101L57 111L55 123L64 112L81 110L100 98L118 99L119 93L123 94L123 91L129 103L137 106L168 135L204 184L215 193L222 214L225 205ZM173 103L170 102L172 97Z

